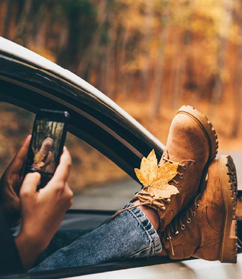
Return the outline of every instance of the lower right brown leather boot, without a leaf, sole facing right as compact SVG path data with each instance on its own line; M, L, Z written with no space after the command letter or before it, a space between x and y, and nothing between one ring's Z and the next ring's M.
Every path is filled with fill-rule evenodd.
M221 156L209 166L207 186L188 209L163 232L162 243L169 258L191 256L236 262L235 220L237 178L233 159Z

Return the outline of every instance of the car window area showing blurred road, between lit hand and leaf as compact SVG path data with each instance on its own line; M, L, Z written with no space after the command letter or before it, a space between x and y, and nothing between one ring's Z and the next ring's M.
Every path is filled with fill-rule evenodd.
M83 140L67 133L66 145L73 163L69 178L74 191L72 208L117 210L141 189L120 167Z

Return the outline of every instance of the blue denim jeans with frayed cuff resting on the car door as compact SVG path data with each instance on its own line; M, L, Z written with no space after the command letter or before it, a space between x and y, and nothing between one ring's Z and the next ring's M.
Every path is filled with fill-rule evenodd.
M140 208L133 208L91 231L59 231L29 272L152 257L160 252L161 241L153 225Z

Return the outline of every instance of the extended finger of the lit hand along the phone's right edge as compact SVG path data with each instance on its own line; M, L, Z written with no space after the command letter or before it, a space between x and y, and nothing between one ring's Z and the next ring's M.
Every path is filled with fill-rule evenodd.
M51 182L62 184L62 187L64 188L65 182L70 174L71 171L71 155L67 148L64 146L63 153L61 155L60 164L56 169L56 172L51 179Z

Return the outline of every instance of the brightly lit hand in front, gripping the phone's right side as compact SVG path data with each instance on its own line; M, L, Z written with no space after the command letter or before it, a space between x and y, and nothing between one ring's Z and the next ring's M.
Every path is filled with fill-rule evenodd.
M73 192L67 184L71 157L66 147L53 178L37 192L39 173L27 174L20 188L22 226L16 246L23 266L28 269L48 246L58 230L66 210L72 204Z

